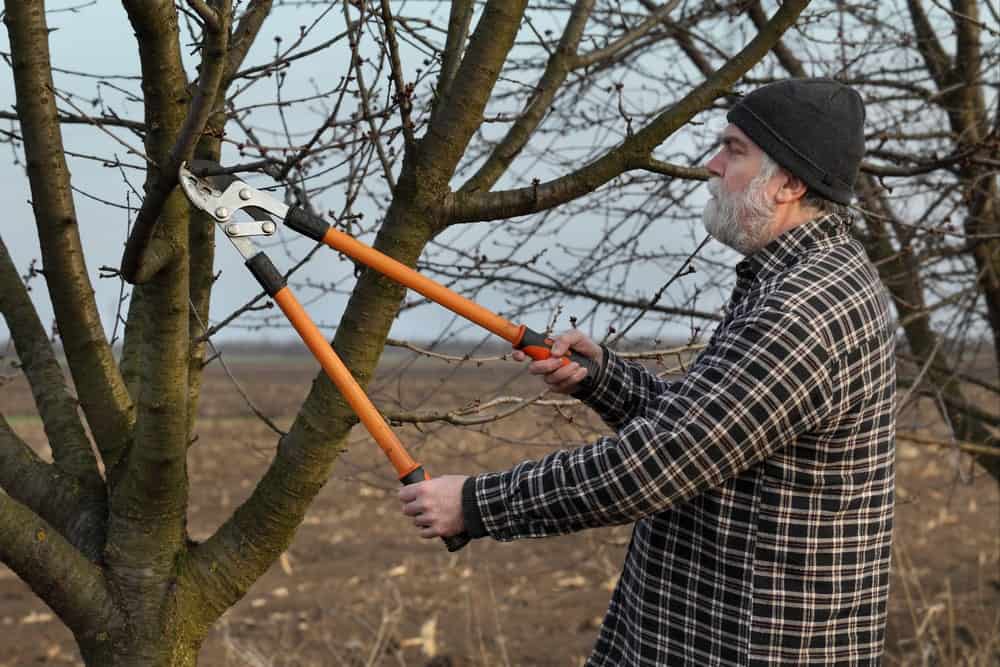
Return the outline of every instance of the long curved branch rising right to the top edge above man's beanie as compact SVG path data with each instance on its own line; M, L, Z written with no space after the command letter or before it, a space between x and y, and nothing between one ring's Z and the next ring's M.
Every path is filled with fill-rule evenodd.
M593 192L625 171L641 168L650 152L699 111L724 94L771 49L809 4L785 2L757 36L701 85L646 127L581 169L531 187L490 193L452 194L446 202L449 223L499 220L544 211Z

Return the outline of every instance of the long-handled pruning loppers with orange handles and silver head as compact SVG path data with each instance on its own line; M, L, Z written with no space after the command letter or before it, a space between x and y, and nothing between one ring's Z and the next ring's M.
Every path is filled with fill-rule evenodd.
M324 372L385 452L403 484L414 484L430 477L423 467L413 460L396 434L386 424L382 415L327 342L326 337L285 284L284 277L270 258L254 243L255 238L270 237L277 232L275 219L289 229L347 255L478 324L510 342L515 349L522 350L533 359L551 357L550 348L553 341L543 334L523 324L518 325L506 320L405 264L361 243L303 208L289 207L236 176L224 173L216 162L194 160L184 163L180 167L178 176L188 200L210 215L222 233L236 246L247 268L268 296L278 304L306 347L319 361ZM239 222L234 220L235 214L241 210L252 220ZM573 362L587 369L585 382L596 377L597 369L589 358L576 352L570 352L563 357L564 365ZM449 551L457 551L468 543L469 537L463 533L444 538L444 541Z

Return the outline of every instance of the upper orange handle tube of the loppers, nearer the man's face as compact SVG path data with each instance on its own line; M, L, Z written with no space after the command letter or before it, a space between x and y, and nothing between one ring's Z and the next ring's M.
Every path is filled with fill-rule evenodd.
M448 289L430 278L417 273L402 262L383 255L378 250L361 243L357 239L339 229L330 227L323 235L323 243L355 259L365 266L370 266L387 278L395 280L400 285L423 294L431 301L436 301L448 310L457 313L467 320L495 333L504 340L516 345L521 338L523 327L500 317L496 313L483 308L475 301Z

